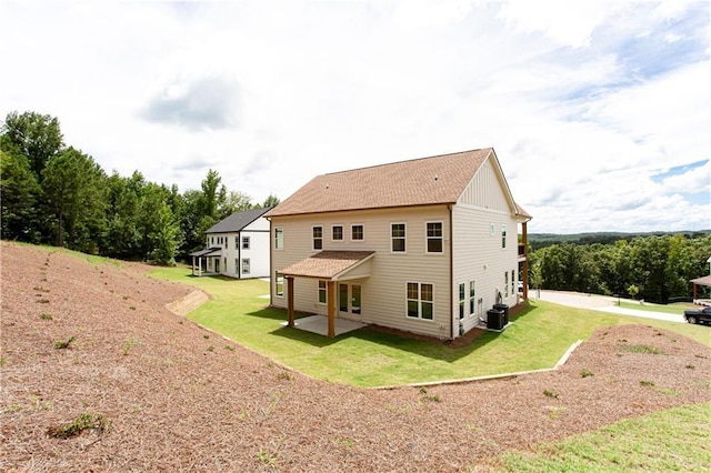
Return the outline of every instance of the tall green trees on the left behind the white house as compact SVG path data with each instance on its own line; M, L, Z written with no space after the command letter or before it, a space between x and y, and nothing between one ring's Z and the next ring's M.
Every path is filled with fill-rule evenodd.
M170 264L203 248L204 231L231 213L277 203L228 191L214 170L182 193L138 170L107 174L66 145L59 120L47 114L10 112L0 128L2 239Z

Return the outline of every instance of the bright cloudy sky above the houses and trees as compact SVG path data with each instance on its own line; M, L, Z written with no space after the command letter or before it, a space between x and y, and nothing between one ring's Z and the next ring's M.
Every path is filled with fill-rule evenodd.
M0 119L254 203L492 147L529 233L711 229L708 0L0 0Z

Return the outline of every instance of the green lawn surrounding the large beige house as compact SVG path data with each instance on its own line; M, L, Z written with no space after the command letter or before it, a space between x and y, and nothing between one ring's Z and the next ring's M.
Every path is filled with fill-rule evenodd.
M543 301L512 316L503 333L487 332L468 346L407 339L360 329L334 339L283 326L287 314L269 309L261 280L193 278L183 269L150 275L194 285L212 299L188 318L311 376L357 386L463 379L552 368L572 343L599 326L642 323L673 330L711 346L709 328L579 310ZM535 340L535 343L530 343Z

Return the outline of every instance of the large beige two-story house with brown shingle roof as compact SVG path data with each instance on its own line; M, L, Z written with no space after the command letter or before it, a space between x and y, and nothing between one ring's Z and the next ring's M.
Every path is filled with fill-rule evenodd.
M528 298L531 217L491 148L318 175L266 217L291 326L300 311L331 336L343 318L454 339Z

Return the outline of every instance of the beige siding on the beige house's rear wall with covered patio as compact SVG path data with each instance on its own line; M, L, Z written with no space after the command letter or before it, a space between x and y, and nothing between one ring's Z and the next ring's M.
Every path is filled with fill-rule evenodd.
M427 249L427 223L442 222L443 252L429 254ZM391 251L390 229L392 223L405 224L405 252ZM362 224L364 239L351 240L351 224ZM343 227L343 240L332 239L332 227ZM312 228L323 228L323 250L374 251L368 263L370 276L349 279L348 284L361 286L361 314L349 318L414 333L449 338L451 330L451 281L449 254L449 209L447 205L428 205L368 211L333 212L310 215L272 218L272 244L274 229L283 229L283 250L272 249L272 268L277 272L318 253L312 250ZM407 316L407 283L429 283L433 286L433 319L420 320ZM284 296L274 294L272 304L287 308ZM318 302L318 280L294 280L294 309L297 311L327 314L327 305ZM342 315L342 314L341 314Z

